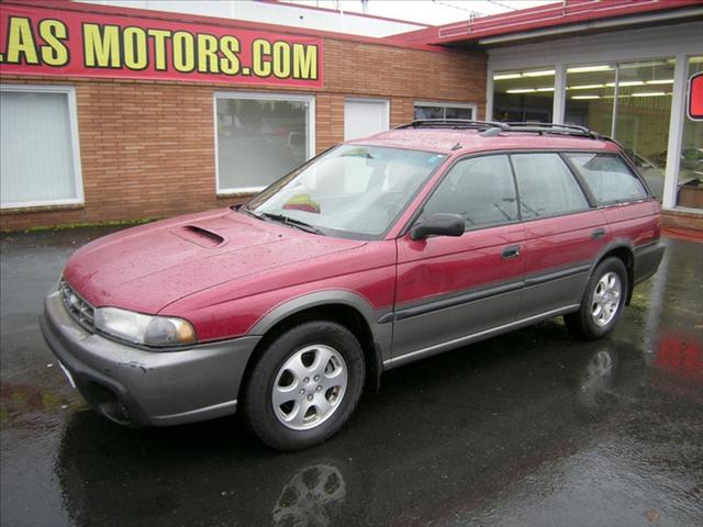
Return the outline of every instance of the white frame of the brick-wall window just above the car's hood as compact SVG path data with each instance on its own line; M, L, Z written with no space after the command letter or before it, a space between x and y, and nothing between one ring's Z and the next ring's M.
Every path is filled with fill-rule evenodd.
M303 102L305 103L305 142L308 149L305 153L306 164L315 157L315 96L306 96L301 93L286 92L257 92L257 91L214 91L212 93L212 115L214 132L214 154L215 154L215 195L219 198L231 198L242 195L253 195L267 189L276 181L257 187L220 187L220 152L217 147L217 100L219 99L248 99L257 101L284 101L284 102ZM297 168L297 167L295 167ZM281 177L284 177L282 175ZM279 178L280 179L280 178Z

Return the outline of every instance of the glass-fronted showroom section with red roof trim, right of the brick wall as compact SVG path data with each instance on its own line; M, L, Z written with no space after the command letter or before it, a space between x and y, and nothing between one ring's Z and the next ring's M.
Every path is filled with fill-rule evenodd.
M703 122L687 112L703 71L703 3L568 0L415 33L488 53L489 119L613 137L667 224L703 229Z

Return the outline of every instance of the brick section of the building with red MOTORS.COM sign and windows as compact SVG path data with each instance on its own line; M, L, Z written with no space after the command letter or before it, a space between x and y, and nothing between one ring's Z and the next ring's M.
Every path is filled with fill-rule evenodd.
M2 229L226 206L345 138L415 114L476 119L486 111L483 52L94 4L1 7ZM161 70L155 41L166 34L158 31L171 41ZM180 33L196 45L199 35L221 46L222 35L236 37L239 75L201 71L198 48L179 57L189 53L171 46ZM144 34L154 64L135 51ZM292 63L298 44L314 47L314 68L302 52L305 64ZM276 61L277 53L286 60ZM44 60L67 56L63 66ZM216 67L222 74L232 60ZM291 78L295 68L309 78Z

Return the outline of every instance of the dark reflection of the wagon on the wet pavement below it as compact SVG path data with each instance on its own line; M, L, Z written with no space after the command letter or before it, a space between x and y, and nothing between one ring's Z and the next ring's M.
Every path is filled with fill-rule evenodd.
M129 525L130 518L138 525L146 517L154 527L227 518L281 527L490 519L482 506L506 489L525 479L533 487L545 484L531 473L560 463L572 466L571 475L596 470L588 456L579 457L592 441L589 429L618 430L645 391L637 349L607 340L577 344L560 361L569 339L555 326L516 334L528 341L547 334L549 347L531 344L515 357L518 339L504 336L480 345L468 360L454 354L433 361L435 379L427 384L426 368L412 367L410 384L394 375L384 397L368 403L378 415L357 423L353 436L295 457L233 442L223 421L174 430L170 439L154 430L136 442L90 413L74 415L57 459L66 508L77 527ZM510 386L500 400L499 386ZM438 399L427 400L435 388ZM399 419L399 404L425 411ZM107 452L114 462L103 461ZM123 504L118 515L115 503ZM155 509L160 513L150 514ZM607 516L594 511L590 517L598 525Z

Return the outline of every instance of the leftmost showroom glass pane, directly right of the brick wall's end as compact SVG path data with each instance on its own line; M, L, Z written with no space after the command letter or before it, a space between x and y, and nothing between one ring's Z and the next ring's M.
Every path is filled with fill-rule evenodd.
M551 123L554 79L554 67L495 72L493 119Z

